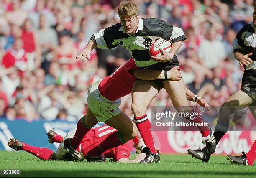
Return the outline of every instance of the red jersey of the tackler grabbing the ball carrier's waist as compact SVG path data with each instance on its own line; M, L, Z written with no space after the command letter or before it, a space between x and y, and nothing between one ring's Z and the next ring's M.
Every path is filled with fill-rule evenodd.
M131 93L133 83L136 80L136 77L129 72L131 69L140 69L135 65L133 58L100 82L100 94L110 101L115 101Z

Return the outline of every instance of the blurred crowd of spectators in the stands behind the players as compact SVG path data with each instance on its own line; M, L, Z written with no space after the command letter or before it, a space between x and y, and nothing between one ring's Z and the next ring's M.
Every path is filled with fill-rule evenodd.
M234 59L236 33L252 20L254 0L134 0L142 18L180 27L187 40L177 53L187 87L220 106L241 86ZM119 0L1 0L0 117L77 121L87 90L131 56L123 47L76 60L93 33L119 22ZM195 103L190 102L191 105ZM151 103L172 106L162 89ZM129 116L131 95L122 99ZM150 108L149 108L150 109Z

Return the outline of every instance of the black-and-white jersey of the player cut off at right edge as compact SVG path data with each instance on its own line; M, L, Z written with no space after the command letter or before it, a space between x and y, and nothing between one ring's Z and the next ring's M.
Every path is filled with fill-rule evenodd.
M256 27L253 22L247 23L241 28L233 41L233 50L242 51L244 54L253 53L250 56L253 64L246 69L256 69Z

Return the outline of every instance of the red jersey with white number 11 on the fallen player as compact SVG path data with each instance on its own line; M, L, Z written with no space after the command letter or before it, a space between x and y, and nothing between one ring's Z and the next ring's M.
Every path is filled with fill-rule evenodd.
M108 125L102 125L95 129L91 129L81 142L83 155L87 155L88 151L99 145L103 140L113 132L117 132L116 129ZM103 153L105 158L115 158L119 160L121 158L129 158L131 150L133 148L133 140L129 140L127 143L118 147L109 149Z

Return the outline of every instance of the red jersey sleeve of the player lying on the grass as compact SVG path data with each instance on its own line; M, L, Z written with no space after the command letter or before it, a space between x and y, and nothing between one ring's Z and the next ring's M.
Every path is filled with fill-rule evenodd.
M129 140L127 143L120 145L115 150L115 160L120 160L121 158L129 159L131 150L133 149L133 140Z

